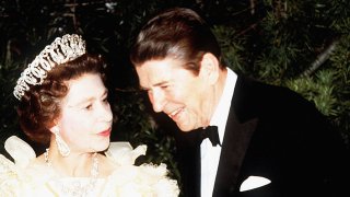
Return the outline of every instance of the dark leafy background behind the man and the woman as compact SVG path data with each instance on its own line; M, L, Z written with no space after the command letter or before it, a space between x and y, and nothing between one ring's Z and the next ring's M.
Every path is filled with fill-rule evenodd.
M115 114L113 141L148 144L139 162L166 163L179 179L174 124L154 114L128 54L141 25L173 7L198 11L212 26L223 56L236 72L288 86L328 117L350 142L350 1L348 0L1 0L0 153L12 135L27 140L12 91L21 71L47 44L81 34L90 53L108 62ZM283 102L283 101L281 101ZM282 130L281 130L282 131ZM315 136L316 138L316 136ZM44 151L32 143L37 154Z

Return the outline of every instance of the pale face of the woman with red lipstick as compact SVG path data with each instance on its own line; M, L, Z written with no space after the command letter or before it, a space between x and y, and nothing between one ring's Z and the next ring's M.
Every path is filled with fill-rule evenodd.
M71 151L96 152L109 146L113 115L107 89L97 73L67 82L69 92L61 102L59 132Z

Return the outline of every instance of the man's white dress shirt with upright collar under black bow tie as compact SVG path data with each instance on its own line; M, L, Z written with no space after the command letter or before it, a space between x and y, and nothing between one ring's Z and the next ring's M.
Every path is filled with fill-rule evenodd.
M237 80L236 73L228 68L228 76L222 96L220 97L218 107L210 120L211 126L218 126L220 143L223 142L223 136L226 127L226 120L230 112L231 100L234 86ZM201 197L211 197L218 165L220 160L221 147L212 147L210 140L207 138L200 144L200 162L201 162L201 178L200 178L200 193Z

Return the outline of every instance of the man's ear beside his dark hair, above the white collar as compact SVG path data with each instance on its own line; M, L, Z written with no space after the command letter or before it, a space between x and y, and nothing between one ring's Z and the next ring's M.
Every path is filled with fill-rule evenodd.
M211 53L206 53L200 61L199 74L206 78L210 84L219 80L220 65L218 58Z

